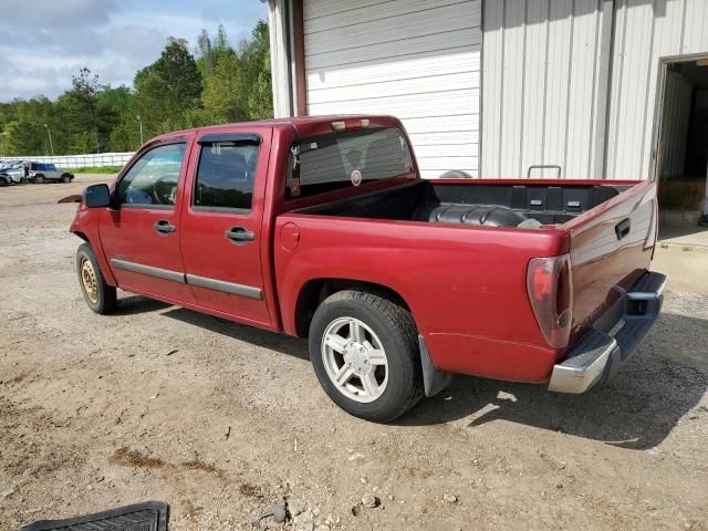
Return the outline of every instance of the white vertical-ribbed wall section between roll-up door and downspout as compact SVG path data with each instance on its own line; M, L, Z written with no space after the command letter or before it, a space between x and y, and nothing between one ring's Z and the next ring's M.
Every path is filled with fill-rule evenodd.
M482 177L602 176L610 7L485 0Z

